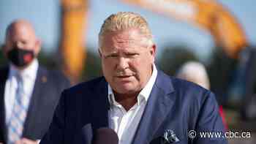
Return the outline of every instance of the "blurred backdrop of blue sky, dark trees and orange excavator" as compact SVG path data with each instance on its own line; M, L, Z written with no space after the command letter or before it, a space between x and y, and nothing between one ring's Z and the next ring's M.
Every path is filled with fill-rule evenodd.
M202 64L227 130L252 132L230 143L255 143L255 5L254 0L1 0L0 45L8 24L29 20L42 39L39 62L63 70L75 84L101 75L97 35L103 20L119 11L138 12L154 34L158 67L175 76L188 61ZM0 50L0 66L6 64Z

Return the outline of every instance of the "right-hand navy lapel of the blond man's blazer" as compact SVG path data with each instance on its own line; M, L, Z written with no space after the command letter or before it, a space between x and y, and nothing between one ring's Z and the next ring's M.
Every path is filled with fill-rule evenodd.
M149 143L173 107L176 96L170 77L158 70L157 80L152 88L145 111L140 120L133 144Z

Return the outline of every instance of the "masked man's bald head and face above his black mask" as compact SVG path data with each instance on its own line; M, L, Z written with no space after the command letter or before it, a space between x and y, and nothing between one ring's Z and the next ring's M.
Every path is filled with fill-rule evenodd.
M32 50L37 56L40 50L40 42L34 34L34 30L23 23L19 23L8 32L4 46L4 53L12 50L12 48L20 48L23 50Z

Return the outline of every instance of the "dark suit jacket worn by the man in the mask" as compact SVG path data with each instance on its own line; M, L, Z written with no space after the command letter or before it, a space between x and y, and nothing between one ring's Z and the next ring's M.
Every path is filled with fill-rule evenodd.
M4 88L8 72L8 67L0 69L0 142L6 142L7 140ZM23 137L31 140L42 138L50 125L61 91L68 87L69 81L61 72L48 71L43 67L39 67L24 124Z

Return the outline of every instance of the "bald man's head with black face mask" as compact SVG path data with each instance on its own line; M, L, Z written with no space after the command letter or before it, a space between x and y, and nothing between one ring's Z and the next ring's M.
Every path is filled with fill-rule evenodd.
M24 69L37 57L41 42L31 24L25 20L12 23L6 34L4 54L18 69Z

